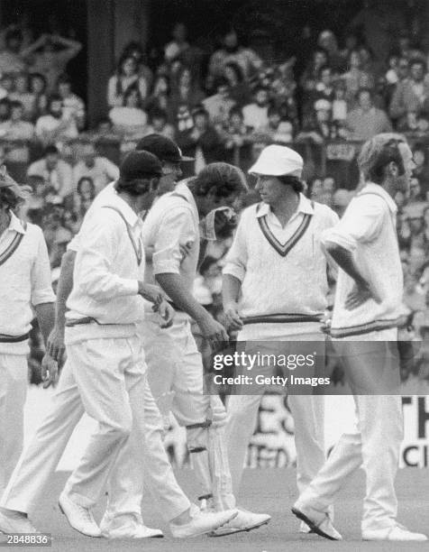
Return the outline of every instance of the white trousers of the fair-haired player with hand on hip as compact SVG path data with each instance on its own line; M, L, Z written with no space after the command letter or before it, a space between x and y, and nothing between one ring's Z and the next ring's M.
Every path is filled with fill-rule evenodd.
M299 497L302 504L325 511L351 474L363 466L366 495L362 532L386 529L396 523L394 482L403 439L403 415L402 400L398 394L397 357L389 354L386 345L388 341L396 340L397 330L372 332L342 340L342 360L352 390L368 390L369 385L377 386L383 380L392 382L392 394L354 394L357 413L354 431L342 435L315 480ZM370 341L381 343L375 348ZM335 340L335 349L337 346ZM394 394L395 391L397 394Z

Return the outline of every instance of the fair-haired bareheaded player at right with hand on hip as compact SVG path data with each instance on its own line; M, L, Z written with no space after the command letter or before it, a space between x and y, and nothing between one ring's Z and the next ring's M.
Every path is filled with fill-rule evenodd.
M403 314L403 280L393 198L398 191L408 193L415 162L405 138L393 133L364 143L358 162L365 185L323 237L340 267L331 335L353 392L357 424L342 435L292 511L319 535L334 538L324 531L326 509L362 465L362 538L423 541L423 534L397 523L394 488L403 417L393 349Z

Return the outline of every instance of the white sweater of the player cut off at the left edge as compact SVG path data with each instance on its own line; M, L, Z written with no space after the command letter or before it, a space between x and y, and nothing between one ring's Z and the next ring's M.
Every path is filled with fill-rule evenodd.
M19 218L11 213L10 225L0 236L0 255L17 233L23 235L21 244L0 264L0 334L6 336L23 336L29 332L34 317L32 306L55 301L50 284L48 249L39 226L27 224L24 229ZM25 354L27 351L26 341L0 343L0 352L4 354Z

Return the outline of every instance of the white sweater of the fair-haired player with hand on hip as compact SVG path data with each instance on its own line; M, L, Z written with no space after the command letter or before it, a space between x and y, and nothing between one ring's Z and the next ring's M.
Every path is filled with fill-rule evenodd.
M340 222L324 233L323 243L338 244L353 253L362 276L381 299L370 299L346 310L344 304L355 283L338 273L331 333L344 337L395 327L404 314L403 275L396 231L397 205L384 189L368 183L347 207Z

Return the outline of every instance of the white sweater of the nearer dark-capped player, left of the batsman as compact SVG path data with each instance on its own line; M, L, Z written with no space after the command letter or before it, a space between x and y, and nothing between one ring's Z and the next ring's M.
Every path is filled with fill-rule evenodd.
M135 325L144 316L138 281L144 278L144 253L141 240L141 218L115 192L113 185L105 189L96 204L90 207L72 249L78 250L73 273L73 290L68 298L68 319L94 317L102 325ZM127 225L113 208L119 210ZM134 246L132 245L135 245ZM141 251L140 266L136 250ZM90 327L89 327L90 326ZM86 326L96 334L104 332L96 324ZM109 327L106 327L109 328ZM116 336L123 328L110 327ZM130 329L131 333L133 332ZM112 334L111 332L111 334ZM126 334L126 332L125 332ZM111 336L114 336L112 334Z

